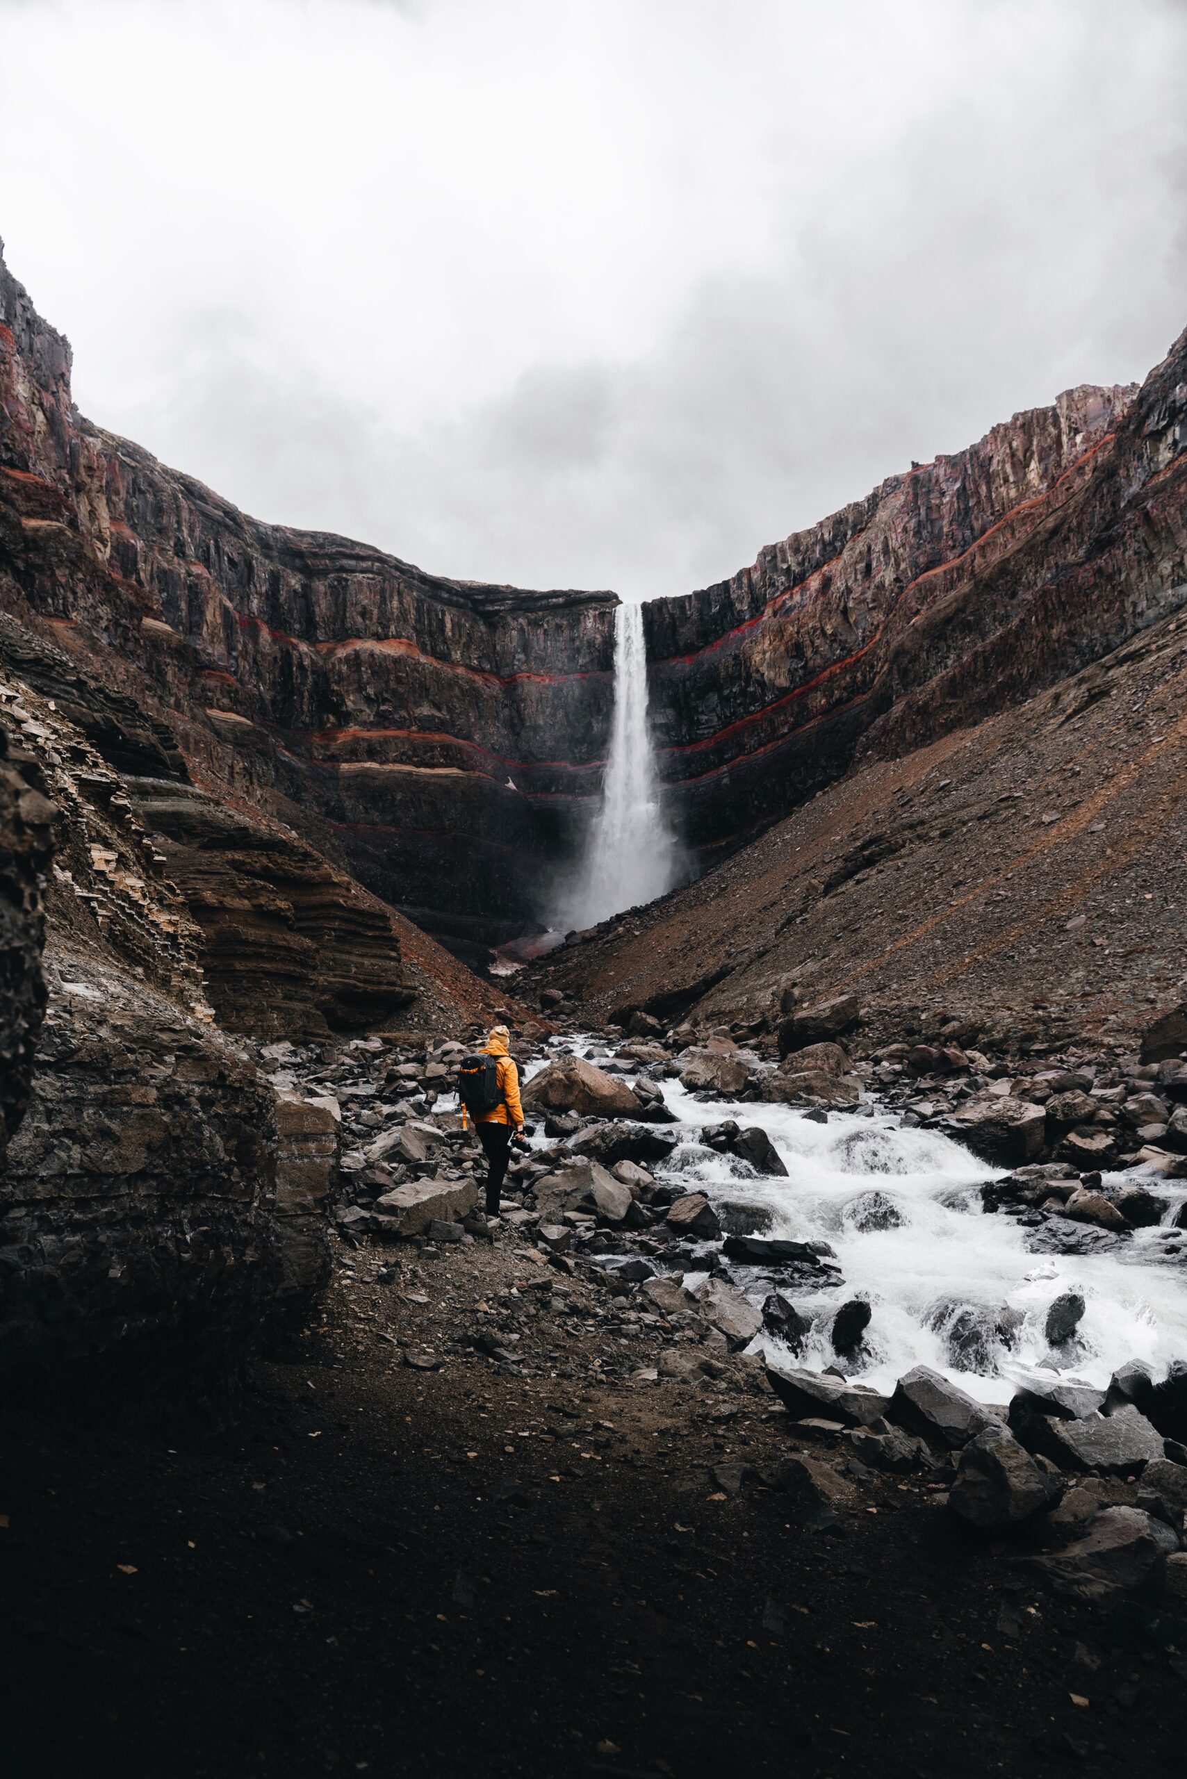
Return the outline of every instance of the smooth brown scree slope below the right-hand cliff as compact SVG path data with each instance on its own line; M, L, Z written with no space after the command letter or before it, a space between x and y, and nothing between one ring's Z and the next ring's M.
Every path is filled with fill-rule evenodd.
M532 982L771 1037L845 994L863 1051L952 1021L1023 1051L1134 1048L1183 998L1185 687L1176 612L1023 704L863 760Z

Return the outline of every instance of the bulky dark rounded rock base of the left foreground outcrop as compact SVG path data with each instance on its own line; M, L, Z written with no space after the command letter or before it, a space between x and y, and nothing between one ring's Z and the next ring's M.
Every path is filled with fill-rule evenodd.
M326 1276L335 1119L133 977L55 980L0 1183L4 1363L230 1363Z

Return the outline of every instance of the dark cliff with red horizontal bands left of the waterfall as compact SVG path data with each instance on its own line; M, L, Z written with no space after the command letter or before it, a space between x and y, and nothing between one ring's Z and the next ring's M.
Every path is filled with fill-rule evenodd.
M246 518L78 416L69 347L4 265L0 603L434 930L539 920L600 783L612 594L434 578Z

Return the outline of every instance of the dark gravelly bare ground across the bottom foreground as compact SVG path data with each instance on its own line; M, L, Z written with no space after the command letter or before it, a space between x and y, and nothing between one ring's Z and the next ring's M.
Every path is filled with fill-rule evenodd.
M739 1482L804 1448L762 1384L600 1382L593 1288L507 1244L408 1268L340 1249L226 1432L9 1425L14 1779L1182 1770L1182 1624L1038 1592L920 1478L806 1532ZM539 1375L448 1352L513 1286Z

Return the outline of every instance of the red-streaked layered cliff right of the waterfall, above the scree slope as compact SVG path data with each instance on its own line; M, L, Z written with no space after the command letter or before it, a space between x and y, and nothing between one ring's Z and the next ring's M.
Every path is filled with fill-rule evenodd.
M1187 340L646 608L660 770L703 859L863 753L1050 685L1183 600Z

